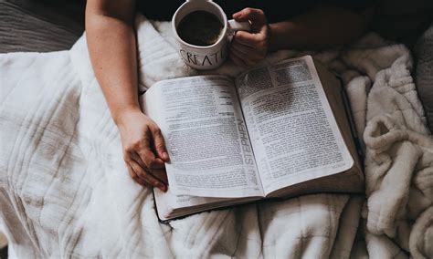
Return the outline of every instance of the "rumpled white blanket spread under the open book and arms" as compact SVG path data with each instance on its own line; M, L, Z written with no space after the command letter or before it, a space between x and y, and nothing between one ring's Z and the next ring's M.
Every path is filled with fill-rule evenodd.
M168 23L139 17L137 35L141 88L197 73L178 57ZM433 257L433 140L407 48L369 34L309 53L343 77L364 136L367 200L306 195L169 224L126 171L85 36L69 51L0 55L0 230L10 255ZM227 62L214 72L240 70Z

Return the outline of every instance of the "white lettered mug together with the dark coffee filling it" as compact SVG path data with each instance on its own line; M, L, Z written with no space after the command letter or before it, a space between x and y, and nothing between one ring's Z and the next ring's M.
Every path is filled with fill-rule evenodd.
M223 9L211 0L187 0L177 8L172 28L179 55L195 69L214 69L227 58L229 36L250 31L248 22L227 20Z

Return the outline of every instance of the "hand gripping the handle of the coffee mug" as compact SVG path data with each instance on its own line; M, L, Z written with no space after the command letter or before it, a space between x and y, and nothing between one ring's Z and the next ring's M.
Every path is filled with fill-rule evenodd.
M268 54L270 30L260 9L245 8L233 15L238 22L249 21L251 32L238 31L230 45L229 57L240 67L252 67Z

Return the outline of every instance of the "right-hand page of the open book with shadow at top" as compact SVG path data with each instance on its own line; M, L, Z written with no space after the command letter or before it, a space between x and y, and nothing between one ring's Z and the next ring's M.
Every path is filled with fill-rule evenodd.
M256 68L236 85L265 193L351 168L312 57Z

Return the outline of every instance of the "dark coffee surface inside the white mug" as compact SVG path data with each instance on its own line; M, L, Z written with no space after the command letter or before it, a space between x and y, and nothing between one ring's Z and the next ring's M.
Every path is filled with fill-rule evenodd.
M218 17L206 11L186 15L177 26L177 34L195 46L209 46L218 40L223 25Z

